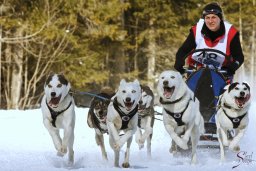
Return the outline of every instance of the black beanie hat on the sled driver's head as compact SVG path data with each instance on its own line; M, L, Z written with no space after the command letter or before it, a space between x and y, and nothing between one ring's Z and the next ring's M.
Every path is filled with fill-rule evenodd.
M216 2L209 3L204 7L202 18L204 18L208 14L215 14L221 20L223 19L222 9Z

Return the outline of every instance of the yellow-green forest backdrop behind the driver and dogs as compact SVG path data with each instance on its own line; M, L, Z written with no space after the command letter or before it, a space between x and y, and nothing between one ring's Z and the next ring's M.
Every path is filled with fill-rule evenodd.
M116 88L122 78L154 87L209 0L0 0L0 108L36 108L46 76L75 90ZM218 0L240 32L254 82L255 0Z

